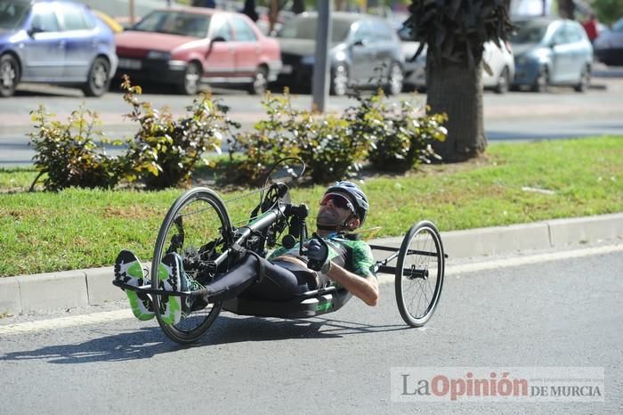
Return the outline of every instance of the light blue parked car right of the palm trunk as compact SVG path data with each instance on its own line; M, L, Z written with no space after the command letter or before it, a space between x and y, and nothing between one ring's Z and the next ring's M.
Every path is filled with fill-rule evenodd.
M548 85L587 89L593 67L593 46L584 28L573 20L514 20L514 87L545 91Z

